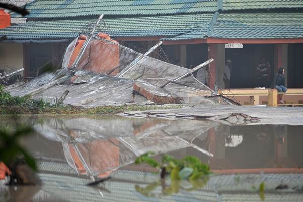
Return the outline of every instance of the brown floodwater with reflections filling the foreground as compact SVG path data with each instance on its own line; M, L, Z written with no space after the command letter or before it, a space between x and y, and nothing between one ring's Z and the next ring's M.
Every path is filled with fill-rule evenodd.
M303 201L303 126L117 116L1 118L1 125L16 123L36 131L21 143L37 159L43 185L9 187L2 180L0 201ZM199 189L189 191L191 184L181 182L168 194L155 185L155 170L133 164L147 151L157 160L163 153L197 156L213 174ZM86 186L107 176L98 186ZM264 193L258 191L262 183ZM139 190L147 186L154 187L144 195Z

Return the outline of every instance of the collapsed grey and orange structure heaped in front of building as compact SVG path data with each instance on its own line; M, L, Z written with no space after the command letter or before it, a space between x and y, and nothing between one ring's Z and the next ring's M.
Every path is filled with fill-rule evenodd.
M59 98L68 90L64 104L88 107L150 102L231 104L192 75L213 59L189 70L147 56L161 44L140 54L103 33L79 36L67 47L62 69L7 90L12 95L29 94L34 99ZM217 97L206 98L212 95Z

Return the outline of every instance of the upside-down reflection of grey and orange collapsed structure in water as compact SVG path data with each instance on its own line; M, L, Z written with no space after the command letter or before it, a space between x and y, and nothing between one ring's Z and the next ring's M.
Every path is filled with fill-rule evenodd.
M184 120L140 118L71 118L62 122L52 118L36 124L35 129L62 143L66 161L79 175L106 177L147 151L161 154L192 147L212 156L192 141L217 123L185 120L186 124L181 125L180 121L184 123Z

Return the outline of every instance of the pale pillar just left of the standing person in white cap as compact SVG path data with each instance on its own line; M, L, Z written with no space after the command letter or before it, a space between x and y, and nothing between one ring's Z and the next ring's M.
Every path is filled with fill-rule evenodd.
M225 44L218 44L217 61L216 61L216 72L217 72L217 83L218 88L224 88L224 66L225 66Z

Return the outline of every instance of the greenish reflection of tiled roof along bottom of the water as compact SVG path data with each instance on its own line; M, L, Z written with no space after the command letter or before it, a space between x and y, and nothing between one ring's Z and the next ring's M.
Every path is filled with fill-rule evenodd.
M48 162L45 162L46 164ZM56 165L60 168L64 167L64 164ZM67 164L65 167L69 169ZM218 198L222 198L223 201L242 201L246 198L249 198L249 201L259 201L258 192L253 190L252 186L258 189L261 182L265 183L266 191L274 191L281 181L290 188L303 186L301 181L303 174L219 175L210 177L205 187L191 191L190 194L181 190L170 196L146 198L136 192L135 185L145 187L146 184L159 179L158 175L140 171L116 170L111 174L112 179L102 185L111 193L101 191L102 197L98 190L84 186L90 182L88 178L46 173L40 173L39 176L44 182L43 192L57 195L67 201L217 201ZM153 193L160 194L161 187L157 187ZM275 192L265 192L265 198L266 201L302 201L303 195L298 193L283 193L281 195Z

